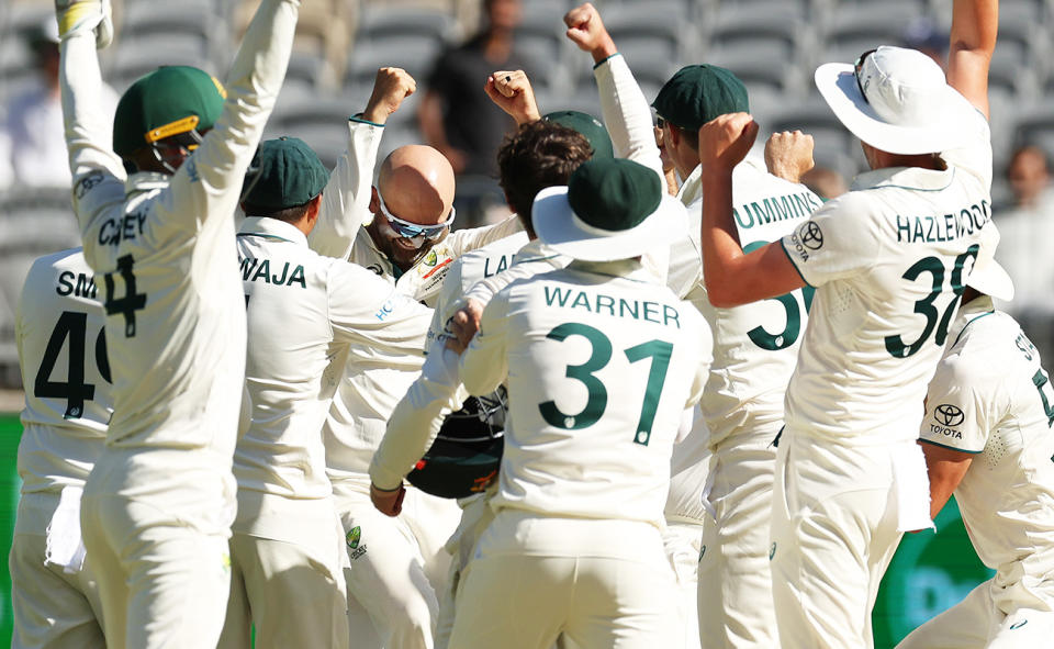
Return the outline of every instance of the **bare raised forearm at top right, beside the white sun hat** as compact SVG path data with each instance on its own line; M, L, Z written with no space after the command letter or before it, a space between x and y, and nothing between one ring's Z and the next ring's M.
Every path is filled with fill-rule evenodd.
M988 116L988 67L999 30L999 0L955 0L948 82Z

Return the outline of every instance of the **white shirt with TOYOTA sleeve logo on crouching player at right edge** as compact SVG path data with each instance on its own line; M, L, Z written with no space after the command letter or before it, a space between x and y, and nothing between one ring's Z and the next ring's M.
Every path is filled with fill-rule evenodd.
M1017 322L964 305L930 381L923 441L975 454L955 490L966 531L997 570L994 596L1054 606L1054 388ZM1008 609L1008 608L1005 608Z

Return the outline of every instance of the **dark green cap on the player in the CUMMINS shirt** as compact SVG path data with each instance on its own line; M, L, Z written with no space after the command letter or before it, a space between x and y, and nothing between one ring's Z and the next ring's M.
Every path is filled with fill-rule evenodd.
M720 115L750 112L747 88L739 77L706 64L677 70L651 105L662 119L687 131L698 131Z

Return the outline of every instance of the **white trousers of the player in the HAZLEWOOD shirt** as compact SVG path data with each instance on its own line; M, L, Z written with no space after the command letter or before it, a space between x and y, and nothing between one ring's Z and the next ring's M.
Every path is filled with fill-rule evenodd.
M871 612L900 536L889 447L834 444L785 429L776 455L771 548L781 645L873 649Z

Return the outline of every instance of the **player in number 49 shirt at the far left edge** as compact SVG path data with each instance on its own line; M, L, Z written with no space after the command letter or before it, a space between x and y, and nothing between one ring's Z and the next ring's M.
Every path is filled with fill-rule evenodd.
M30 268L15 313L25 385L22 480L9 569L20 649L102 649L102 606L80 535L80 496L113 413L103 311L79 248Z

